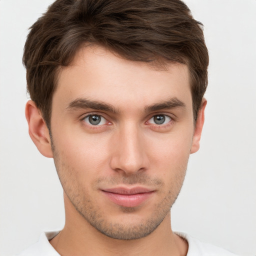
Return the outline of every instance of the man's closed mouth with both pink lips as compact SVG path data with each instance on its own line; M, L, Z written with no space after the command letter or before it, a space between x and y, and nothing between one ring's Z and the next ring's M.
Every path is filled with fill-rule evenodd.
M136 207L149 199L155 190L144 187L114 187L101 190L113 203L123 207Z

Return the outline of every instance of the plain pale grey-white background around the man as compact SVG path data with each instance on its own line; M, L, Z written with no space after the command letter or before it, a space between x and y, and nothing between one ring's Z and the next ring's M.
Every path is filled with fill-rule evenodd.
M52 0L0 0L0 255L19 252L64 223L53 160L24 117L27 28ZM172 227L256 255L256 0L185 0L204 24L210 55L205 125L191 155Z

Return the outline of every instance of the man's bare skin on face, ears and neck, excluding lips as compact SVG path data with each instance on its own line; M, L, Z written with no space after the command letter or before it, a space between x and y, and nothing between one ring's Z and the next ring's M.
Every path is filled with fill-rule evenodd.
M205 105L203 99L194 124L186 65L162 70L98 46L81 48L58 75L51 136L34 102L26 104L29 134L54 158L64 190L65 226L51 245L63 256L186 255L170 208L189 154L199 148ZM92 115L101 122L92 125ZM123 206L104 193L119 186L151 192L139 205Z

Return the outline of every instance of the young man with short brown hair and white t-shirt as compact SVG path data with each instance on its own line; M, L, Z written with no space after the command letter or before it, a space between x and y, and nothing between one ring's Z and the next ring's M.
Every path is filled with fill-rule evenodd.
M24 47L29 135L53 157L65 226L21 255L233 255L174 233L199 148L208 54L179 0L57 0Z

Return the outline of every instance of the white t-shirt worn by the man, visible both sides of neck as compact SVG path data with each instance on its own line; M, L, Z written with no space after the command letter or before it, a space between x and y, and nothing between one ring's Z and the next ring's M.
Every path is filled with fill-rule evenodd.
M17 256L60 256L48 241L58 232L59 231L41 233L40 238L36 243L22 251ZM188 251L186 256L235 256L235 254L225 249L209 243L201 242L186 233L175 233L183 237L188 242Z

